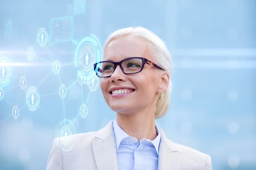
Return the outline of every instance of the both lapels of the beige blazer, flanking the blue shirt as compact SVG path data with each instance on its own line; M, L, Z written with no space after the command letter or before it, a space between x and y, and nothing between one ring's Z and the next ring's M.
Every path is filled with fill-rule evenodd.
M158 170L178 170L180 165L178 147L166 137L160 127L158 129L161 132ZM96 132L92 144L98 170L118 170L113 120Z

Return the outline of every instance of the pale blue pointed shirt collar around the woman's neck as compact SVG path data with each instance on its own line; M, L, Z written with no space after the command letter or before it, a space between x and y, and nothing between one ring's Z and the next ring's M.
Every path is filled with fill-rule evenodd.
M150 140L148 140L148 141L150 141L154 145L154 147L157 151L157 154L158 154L159 144L160 144L160 140L161 140L161 132L160 132L160 129L156 125L155 125L155 127L157 130L157 137L153 141L150 141ZM119 125L116 122L116 119L114 119L114 121L113 121L113 132L114 132L114 136L115 136L115 140L116 140L116 150L118 150L119 145L122 142L122 140L127 137L131 137L131 136L129 136L127 133L125 133L125 131L123 131L121 129L121 127L119 127Z

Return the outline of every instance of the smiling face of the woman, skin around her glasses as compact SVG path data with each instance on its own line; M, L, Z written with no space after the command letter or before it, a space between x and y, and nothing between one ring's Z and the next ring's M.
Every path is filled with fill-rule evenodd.
M147 49L147 42L134 36L111 41L104 52L105 61L119 62L128 57L144 57L154 61ZM158 94L168 86L163 84L168 82L163 81L157 68L150 65L145 64L137 74L124 74L118 65L111 77L101 78L100 86L105 101L113 111L132 114L155 107ZM112 92L112 88L126 93L115 94L116 91Z

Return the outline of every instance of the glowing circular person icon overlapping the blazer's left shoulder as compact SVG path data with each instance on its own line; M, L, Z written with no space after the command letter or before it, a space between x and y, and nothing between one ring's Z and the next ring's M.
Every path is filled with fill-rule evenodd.
M56 128L56 137L60 138L60 147L64 152L68 152L73 148L73 141L75 140L74 134L76 129L73 122L69 119L63 119L58 123Z

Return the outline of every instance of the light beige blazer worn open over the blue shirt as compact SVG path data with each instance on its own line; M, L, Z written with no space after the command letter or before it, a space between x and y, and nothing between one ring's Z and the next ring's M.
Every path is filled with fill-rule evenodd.
M159 129L158 170L212 170L209 155L170 141ZM113 120L97 132L69 137L74 139L69 152L60 149L59 138L54 139L47 170L118 170Z

